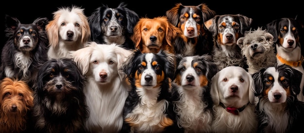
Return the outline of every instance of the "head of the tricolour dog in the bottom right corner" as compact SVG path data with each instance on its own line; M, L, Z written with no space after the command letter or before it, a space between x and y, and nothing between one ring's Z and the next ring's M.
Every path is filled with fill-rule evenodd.
M276 65L261 69L252 76L256 96L266 97L272 103L284 103L288 99L297 99L303 74L291 66Z

